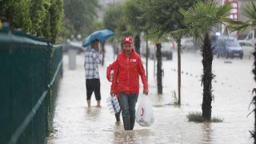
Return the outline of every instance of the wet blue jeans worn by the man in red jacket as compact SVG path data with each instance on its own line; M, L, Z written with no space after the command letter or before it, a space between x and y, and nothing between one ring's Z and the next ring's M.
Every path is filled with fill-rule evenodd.
M119 92L119 102L122 110L122 121L125 130L133 130L135 123L135 106L138 94L125 94Z

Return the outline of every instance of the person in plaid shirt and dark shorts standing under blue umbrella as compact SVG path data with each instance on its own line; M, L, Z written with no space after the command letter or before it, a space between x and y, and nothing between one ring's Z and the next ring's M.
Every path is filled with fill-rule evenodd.
M86 100L87 106L90 107L90 98L94 92L97 100L97 107L101 106L101 83L98 74L98 64L102 62L102 50L99 50L99 40L91 42L90 49L85 54L86 70Z

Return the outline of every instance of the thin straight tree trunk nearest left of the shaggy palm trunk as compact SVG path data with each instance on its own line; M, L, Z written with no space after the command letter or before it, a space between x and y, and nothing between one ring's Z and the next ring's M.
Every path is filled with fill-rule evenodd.
M181 106L181 102L182 102L182 98L181 98L181 53L182 53L182 45L181 45L181 39L182 38L178 38L177 39L177 43L178 43L178 105Z

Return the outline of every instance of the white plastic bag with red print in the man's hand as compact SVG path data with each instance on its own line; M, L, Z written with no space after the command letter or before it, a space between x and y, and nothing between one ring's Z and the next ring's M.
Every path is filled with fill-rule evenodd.
M136 111L136 122L140 126L151 126L154 123L154 112L150 99L147 96L143 96L142 101Z

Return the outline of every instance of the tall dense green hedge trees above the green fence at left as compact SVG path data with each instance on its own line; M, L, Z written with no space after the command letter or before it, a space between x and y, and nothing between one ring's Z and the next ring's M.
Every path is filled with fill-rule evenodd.
M11 29L45 37L56 42L63 15L63 0L14 0L0 1L1 22L8 22Z

